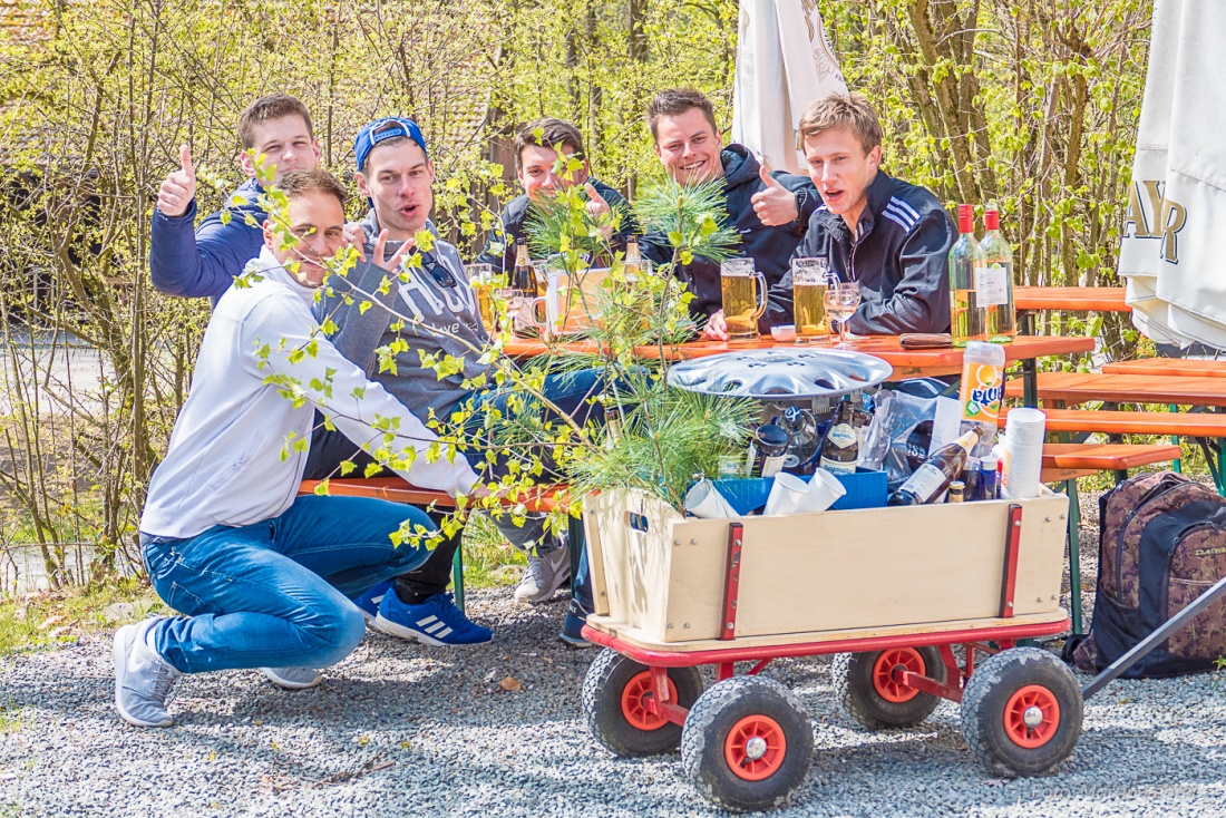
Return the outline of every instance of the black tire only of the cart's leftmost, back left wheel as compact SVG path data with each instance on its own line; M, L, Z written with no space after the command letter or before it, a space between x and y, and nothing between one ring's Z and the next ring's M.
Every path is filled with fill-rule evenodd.
M614 755L636 758L676 751L682 742L682 727L668 722L656 730L640 730L622 711L622 693L630 681L647 670L646 665L604 649L584 678L584 715L596 741ZM702 676L696 667L669 667L668 678L677 687L674 704L689 709L702 695Z

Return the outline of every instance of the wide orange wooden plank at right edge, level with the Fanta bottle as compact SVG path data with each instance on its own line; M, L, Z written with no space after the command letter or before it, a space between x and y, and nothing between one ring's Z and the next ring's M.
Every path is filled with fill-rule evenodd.
M1038 396L1045 401L1085 403L1177 403L1226 406L1226 379L1187 375L1111 375L1048 372L1038 375ZM1004 394L1021 396L1021 384L1005 384Z

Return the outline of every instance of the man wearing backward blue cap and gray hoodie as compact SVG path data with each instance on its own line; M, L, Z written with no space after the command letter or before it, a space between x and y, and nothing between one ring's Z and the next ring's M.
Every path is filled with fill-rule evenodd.
M429 251L422 251L421 269L409 270L406 282L394 285L384 294L380 294L380 286L385 273L373 264L360 265L351 275L354 286L381 302L385 309L363 310L362 302L365 298L362 297L349 298L351 303L347 304L345 285L333 282L335 294L325 298L320 308L340 327L335 337L337 348L423 421L432 413L441 419L450 418L454 412L470 405L478 413L490 408L505 411L505 392L493 386L473 391L466 385L466 381L472 383L489 372L490 367L481 363L472 353L473 348L484 347L489 338L459 251L438 238L429 222L434 205L434 164L427 153L421 129L413 120L395 117L370 123L358 132L354 157L358 166L358 190L373 205L362 222L368 261L373 242L384 231L391 239L389 248L396 247L396 243L412 242L418 232L425 229L435 233L435 239ZM408 320L392 324L392 312ZM396 356L395 372L374 372L375 350L392 345L403 350ZM439 361L450 356L462 361L462 369L440 378L434 369L422 367L423 354ZM550 375L544 384L553 405L580 416L588 410L590 399L600 394L601 389L602 380L595 370ZM598 412L600 408L592 411ZM320 430L311 443L306 476L326 477L335 472L342 460L358 462L359 467L364 462L364 457L354 453L352 444L341 435ZM499 527L520 547L536 543L539 548L546 540L538 520L530 521L524 527L515 527L509 522ZM548 545L560 547L557 542ZM558 578L547 589L544 598L553 595L562 579ZM385 594L380 601L375 627L396 635L422 639L421 630L414 624L418 618L416 608L427 602L438 607L440 602L438 598L422 600L418 595L406 592L407 589L400 583L395 590L396 592ZM434 613L441 617L438 611ZM581 641L579 628L584 614L582 611L573 613L575 622L570 622L568 617L563 638L573 643ZM462 617L454 606L447 616L450 621Z

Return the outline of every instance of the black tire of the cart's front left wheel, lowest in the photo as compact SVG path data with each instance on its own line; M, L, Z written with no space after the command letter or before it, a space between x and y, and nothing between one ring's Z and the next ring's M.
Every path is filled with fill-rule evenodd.
M728 766L725 742L745 716L769 716L782 730L787 748L780 768L760 781L747 781ZM736 676L699 697L682 731L682 766L698 791L736 812L776 809L791 800L813 763L813 724L801 700L786 687L759 676Z

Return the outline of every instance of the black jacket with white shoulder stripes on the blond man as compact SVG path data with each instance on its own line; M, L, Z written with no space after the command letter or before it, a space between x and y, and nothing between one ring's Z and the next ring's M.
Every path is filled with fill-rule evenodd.
M856 238L821 205L797 259L826 258L840 281L859 282L847 321L856 335L949 331L949 248L958 228L931 191L878 170ZM792 273L771 289L771 324L792 323Z

